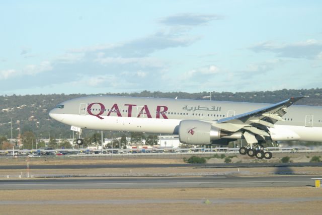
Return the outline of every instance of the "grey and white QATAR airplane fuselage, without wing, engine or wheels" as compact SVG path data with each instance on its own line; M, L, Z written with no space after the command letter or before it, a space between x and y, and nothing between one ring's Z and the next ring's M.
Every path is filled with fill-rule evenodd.
M79 128L177 134L182 120L216 123L268 104L204 100L91 96L61 103L50 116ZM322 107L292 105L274 128L272 140L322 141ZM228 137L229 138L229 137ZM235 138L235 136L233 136Z

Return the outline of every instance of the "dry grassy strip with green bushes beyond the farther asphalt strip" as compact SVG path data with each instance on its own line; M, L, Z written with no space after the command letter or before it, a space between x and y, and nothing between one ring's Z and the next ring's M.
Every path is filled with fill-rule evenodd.
M184 164L183 158L190 158L192 155L163 155L160 157L146 156L93 156L93 157L74 157L74 156L53 156L53 157L0 157L0 165L91 165L91 164ZM214 154L198 154L201 157L212 157ZM270 160L258 160L255 157L249 157L239 154L226 154L226 157L232 156L232 163L280 163L281 158L290 157L293 163L309 162L313 156L322 157L322 153L273 153ZM179 158L181 157L181 158ZM207 163L224 163L224 159L210 158Z

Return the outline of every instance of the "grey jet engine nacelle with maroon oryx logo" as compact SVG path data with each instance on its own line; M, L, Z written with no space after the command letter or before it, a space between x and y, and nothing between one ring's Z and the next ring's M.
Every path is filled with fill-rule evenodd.
M179 124L179 140L183 144L208 145L220 139L220 128L199 120L183 120Z

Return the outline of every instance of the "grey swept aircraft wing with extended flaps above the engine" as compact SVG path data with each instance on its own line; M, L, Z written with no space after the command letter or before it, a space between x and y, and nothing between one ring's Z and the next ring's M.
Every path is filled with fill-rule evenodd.
M284 121L282 118L287 111L287 107L294 104L296 101L304 98L291 97L285 101L269 105L248 113L238 114L235 116L227 117L218 120L217 124L230 124L231 126L220 126L230 131L236 131L237 129L244 128L255 134L269 135L266 132L267 127L274 127L277 121Z

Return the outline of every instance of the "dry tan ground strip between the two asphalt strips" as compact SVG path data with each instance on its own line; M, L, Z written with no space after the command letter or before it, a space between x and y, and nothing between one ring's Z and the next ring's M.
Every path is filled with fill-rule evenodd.
M31 169L29 177L147 177L147 176L261 176L261 175L322 175L322 167L254 167L254 168L102 168L102 169ZM0 170L0 180L26 178L27 169Z

